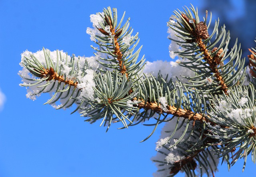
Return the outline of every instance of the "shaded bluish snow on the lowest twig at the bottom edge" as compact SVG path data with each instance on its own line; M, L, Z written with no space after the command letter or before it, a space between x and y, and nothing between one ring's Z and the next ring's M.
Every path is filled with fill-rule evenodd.
M151 158L152 161L155 161L156 166L158 168L158 171L153 174L154 177L170 176L170 169L173 167L174 163L187 157L188 153L186 151L184 151L184 149L188 149L188 146L189 146L188 144L179 143L178 146L173 146L174 144L176 144L178 142L178 140L180 139L180 136L184 133L186 123L181 125L181 122L182 122L182 120L184 120L184 118L179 118L178 127L181 126L181 128L176 130L174 136L170 139L170 136L172 135L174 128L176 126L177 120L178 120L178 117L174 117L169 122L166 122L166 124L164 125L164 127L161 130L160 138L159 138L158 142L156 143L156 151L158 151L158 153L156 153L156 155ZM190 122L189 124L190 125L188 127L188 132L190 132L190 130L193 127L192 122ZM184 141L186 138L188 138L189 134L190 133L185 134L185 136L183 137L181 142ZM187 142L190 142L191 144L193 144L193 143L197 142L197 140L198 140L198 136L193 134L192 136L190 136L188 138ZM170 148L170 147L172 147L172 148ZM212 169L214 171L217 171L216 165L218 165L218 163L219 163L219 159L217 158L218 155L215 155L214 154L215 152L210 151L210 150L212 150L212 149L209 149L209 151L204 151L204 154L207 155L207 153L211 153L213 159L211 158L210 155L207 155L207 160L212 165L211 166ZM202 158L204 158L204 155L198 156L198 158L200 158L200 161L204 161L204 159L202 159ZM216 165L214 165L214 162L216 163ZM210 167L209 166L207 166L207 167L208 167L208 171L210 171ZM206 173L205 169L202 169L202 172ZM197 173L200 174L199 168L197 168Z

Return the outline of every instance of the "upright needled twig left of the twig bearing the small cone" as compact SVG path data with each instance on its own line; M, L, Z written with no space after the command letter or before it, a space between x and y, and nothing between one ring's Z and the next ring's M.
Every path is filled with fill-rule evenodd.
M116 8L111 10L110 7L104 9L102 14L98 13L96 16L99 16L102 20L94 23L96 31L92 32L90 30L88 33L100 47L100 49L96 47L93 47L93 49L106 54L100 57L102 61L99 61L99 63L106 68L118 70L129 79L139 75L144 68L145 59L143 56L137 62L141 47L135 53L132 53L138 45L139 39L138 33L132 36L132 28L128 29L130 18L121 27L124 14L118 24L117 10ZM131 47L133 44L134 46ZM104 70L100 71L104 72Z

